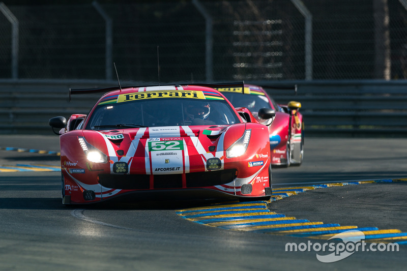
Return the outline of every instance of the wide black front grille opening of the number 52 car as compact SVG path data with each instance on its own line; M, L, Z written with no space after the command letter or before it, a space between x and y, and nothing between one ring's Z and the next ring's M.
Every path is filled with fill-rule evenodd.
M187 188L223 185L236 178L236 169L186 173ZM154 189L182 188L182 174L154 176ZM150 175L147 174L99 174L99 183L111 189L150 189Z

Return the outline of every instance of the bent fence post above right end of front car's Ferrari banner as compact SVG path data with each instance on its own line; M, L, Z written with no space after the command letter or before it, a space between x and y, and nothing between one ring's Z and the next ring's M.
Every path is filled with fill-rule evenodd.
M212 37L212 17L207 12L205 7L198 0L192 0L192 4L196 7L200 14L206 21L206 54L205 54L205 64L206 64L206 77L208 82L213 81L213 37Z

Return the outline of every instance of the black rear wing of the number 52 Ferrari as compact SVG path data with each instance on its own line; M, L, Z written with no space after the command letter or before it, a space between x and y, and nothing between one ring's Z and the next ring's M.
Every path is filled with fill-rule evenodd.
M241 87L244 89L244 82L231 82L231 83L190 83L190 84L183 84L183 85L196 85L196 86L208 86L212 88L217 87ZM129 86L109 86L109 87L102 87L102 88L77 88L71 89L69 88L69 101L71 101L71 95L76 94L91 94L91 93L107 93L111 91L116 91L117 89L122 90L122 88L129 88L129 87L149 87L149 86L157 86L157 85L129 85ZM175 86L181 86L181 84L175 84Z

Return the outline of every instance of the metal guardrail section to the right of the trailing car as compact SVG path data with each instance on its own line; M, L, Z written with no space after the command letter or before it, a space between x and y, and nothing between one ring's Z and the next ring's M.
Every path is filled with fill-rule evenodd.
M267 91L279 103L301 102L300 112L308 135L407 135L407 82L404 80L310 81L298 82L297 95L274 89Z

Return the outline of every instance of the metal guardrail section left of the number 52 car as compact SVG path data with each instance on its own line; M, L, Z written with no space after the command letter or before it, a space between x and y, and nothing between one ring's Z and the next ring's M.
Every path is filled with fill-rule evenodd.
M69 88L112 86L117 81L0 80L0 134L52 134L53 116L88 113L100 98L72 97Z

